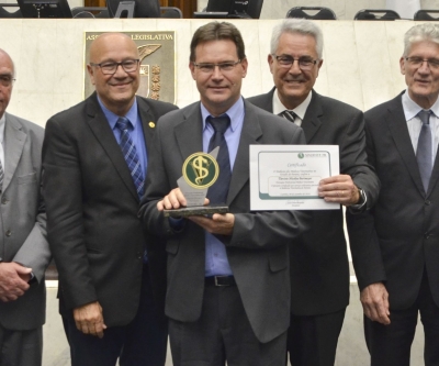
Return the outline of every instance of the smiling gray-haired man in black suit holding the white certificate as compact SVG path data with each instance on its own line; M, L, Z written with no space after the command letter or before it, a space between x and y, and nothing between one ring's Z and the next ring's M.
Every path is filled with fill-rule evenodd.
M322 179L319 196L350 210L369 209L379 181L367 163L363 114L319 96L313 86L322 67L323 35L307 20L273 29L268 63L275 87L248 101L302 126L312 145L338 145L341 175ZM349 264L339 210L313 211L312 230L290 245L292 365L334 365L349 303Z

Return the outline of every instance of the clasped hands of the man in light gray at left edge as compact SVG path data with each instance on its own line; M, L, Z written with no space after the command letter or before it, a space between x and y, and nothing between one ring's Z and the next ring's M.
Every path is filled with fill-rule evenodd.
M15 262L0 263L0 300L14 301L30 288L32 268L24 267Z

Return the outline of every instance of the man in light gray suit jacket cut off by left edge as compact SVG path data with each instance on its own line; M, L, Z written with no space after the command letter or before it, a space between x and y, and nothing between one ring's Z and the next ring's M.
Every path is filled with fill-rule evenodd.
M14 75L0 49L0 365L37 366L50 260L40 192L44 130L5 112Z

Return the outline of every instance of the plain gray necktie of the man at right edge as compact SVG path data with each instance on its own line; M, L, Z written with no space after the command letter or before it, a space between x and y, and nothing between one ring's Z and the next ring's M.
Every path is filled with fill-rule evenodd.
M431 162L431 129L430 129L430 113L431 111L421 110L418 113L423 127L420 129L418 147L416 149L416 159L420 178L423 179L424 190L427 192L428 184L430 182L432 162Z

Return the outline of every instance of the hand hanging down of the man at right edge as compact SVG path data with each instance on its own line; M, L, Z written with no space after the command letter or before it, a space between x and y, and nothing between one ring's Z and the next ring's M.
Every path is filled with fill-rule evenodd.
M389 325L391 312L389 311L389 293L382 282L365 287L360 295L365 317L370 320Z

